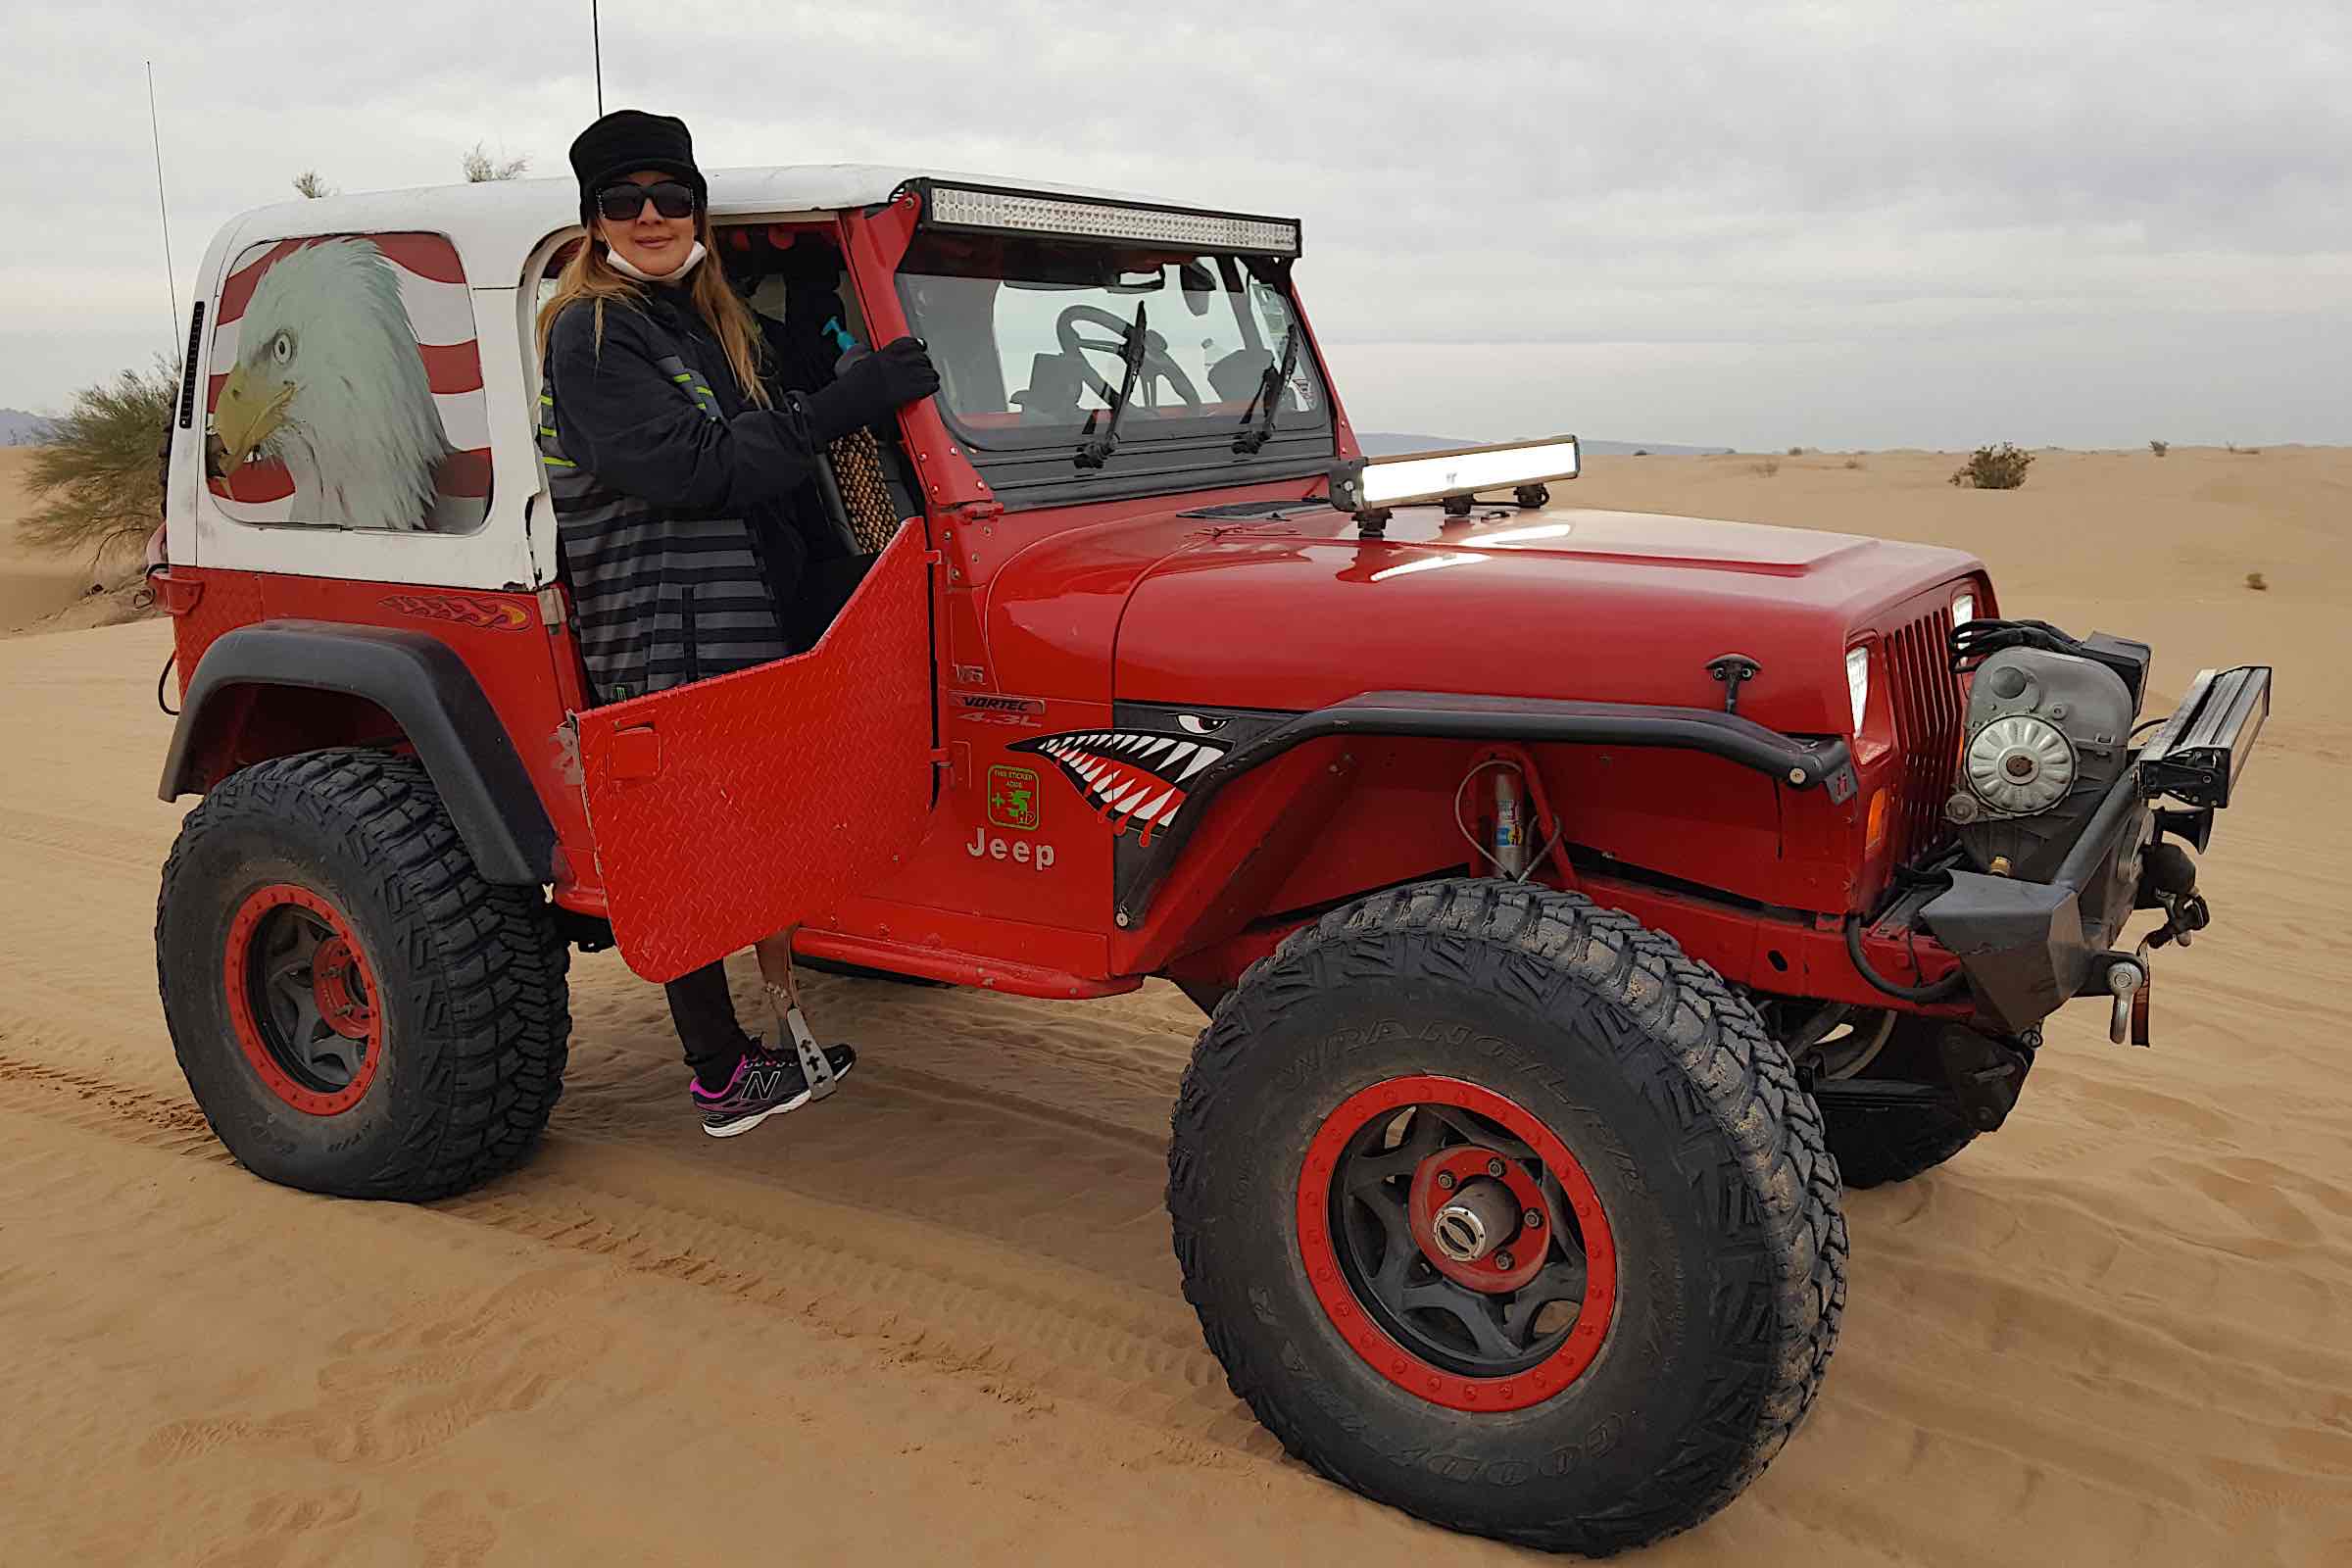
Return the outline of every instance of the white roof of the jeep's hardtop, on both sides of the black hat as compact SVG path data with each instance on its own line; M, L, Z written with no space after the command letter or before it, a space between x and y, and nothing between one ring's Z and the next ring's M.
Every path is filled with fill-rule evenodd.
M710 181L710 214L717 219L757 214L842 212L887 202L910 179L997 186L1044 195L1091 195L1141 202L1124 190L1091 190L1051 181L1014 181L995 174L908 169L868 162L779 165L769 169L703 169ZM1216 212L1204 209L1204 212ZM477 289L510 289L522 277L532 249L560 228L579 226L579 181L506 179L475 186L416 186L367 190L318 200L275 202L230 219L216 240L223 261L249 244L303 235L353 235L426 230L449 235Z

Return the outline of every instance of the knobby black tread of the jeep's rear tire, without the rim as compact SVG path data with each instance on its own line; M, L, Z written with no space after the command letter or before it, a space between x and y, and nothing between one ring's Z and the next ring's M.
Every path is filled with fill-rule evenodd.
M174 994L219 990L221 957L212 950L209 969L195 971L174 961L174 910L205 907L186 875L195 849L256 823L294 823L303 839L325 842L332 870L372 905L348 914L381 922L383 945L414 971L402 987L386 983L379 1006L397 1020L393 1048L405 1065L423 1067L395 1124L369 1138L365 1168L280 1152L278 1168L259 1173L336 1197L423 1201L517 1166L562 1095L572 952L539 889L482 879L414 757L360 748L275 757L223 778L181 823L155 903L155 980L191 1086L219 1070L207 1058L233 1058L238 1046L181 1027ZM252 1072L242 1060L235 1067ZM238 1152L209 1105L205 1117Z

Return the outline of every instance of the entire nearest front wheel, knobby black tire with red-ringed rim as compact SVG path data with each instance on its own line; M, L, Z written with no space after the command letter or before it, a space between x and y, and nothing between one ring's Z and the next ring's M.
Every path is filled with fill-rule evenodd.
M1482 1175L1510 1234L1463 1262L1477 1225L1432 1229L1430 1185L1465 1206ZM1736 1497L1844 1307L1837 1166L1752 1006L1625 914L1486 879L1251 966L1185 1074L1169 1213L1209 1349L1291 1453L1555 1552Z

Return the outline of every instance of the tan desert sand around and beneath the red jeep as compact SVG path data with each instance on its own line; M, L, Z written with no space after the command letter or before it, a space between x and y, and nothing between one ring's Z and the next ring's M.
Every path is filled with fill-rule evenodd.
M2274 661L2279 715L2154 1051L2070 1013L2006 1131L1853 1194L1813 1420L1639 1561L2352 1561L2352 451L2049 454L2016 494L1853 461L1602 458L1569 498L1966 543L2011 611L2150 637L2166 698ZM1160 1213L1167 987L818 983L861 1081L713 1145L661 994L579 959L522 1173L435 1208L245 1175L155 1006L167 642L0 642L0 1561L1510 1556L1225 1392Z

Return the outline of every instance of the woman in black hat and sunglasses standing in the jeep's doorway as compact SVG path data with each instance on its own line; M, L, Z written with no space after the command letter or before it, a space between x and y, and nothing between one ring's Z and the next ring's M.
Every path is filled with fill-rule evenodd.
M793 654L779 599L807 562L788 498L835 437L938 390L898 339L814 393L762 381L762 334L710 244L682 120L623 108L572 143L588 237L539 313L539 444L600 701ZM786 943L788 938L771 938ZM788 952L767 952L762 969ZM809 1100L793 1051L743 1034L720 964L670 980L703 1131ZM828 1046L835 1072L856 1060Z

